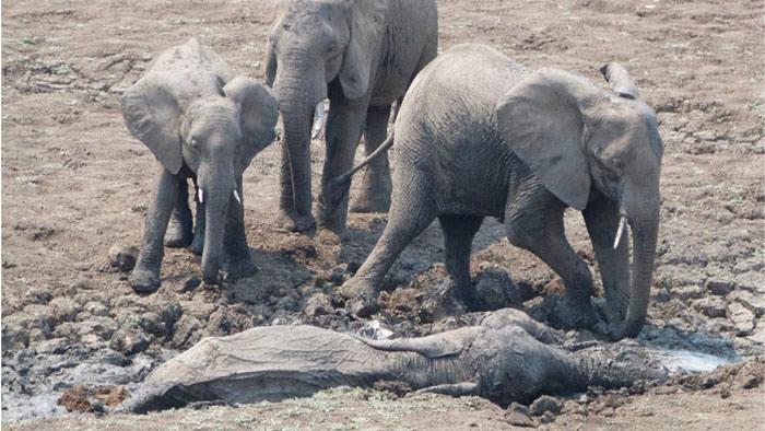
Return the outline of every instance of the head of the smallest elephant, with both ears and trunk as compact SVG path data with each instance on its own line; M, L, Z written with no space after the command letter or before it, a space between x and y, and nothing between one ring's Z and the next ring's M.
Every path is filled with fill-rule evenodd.
M136 82L121 102L130 133L168 172L178 174L187 166L197 175L207 223L202 273L209 283L217 280L229 202L242 202L237 180L255 154L273 141L279 116L269 90L251 79L237 77L225 85L216 80L215 85L212 95L183 104L190 94L188 83L152 72Z

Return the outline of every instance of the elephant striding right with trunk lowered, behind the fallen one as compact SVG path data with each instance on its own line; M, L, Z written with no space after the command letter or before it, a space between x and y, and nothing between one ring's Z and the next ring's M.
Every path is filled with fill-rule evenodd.
M582 212L607 298L608 333L643 327L659 229L663 144L654 112L619 65L603 73L616 94L554 69L527 69L489 47L443 54L412 84L396 124L392 206L374 251L342 288L354 312L375 310L385 273L438 218L457 299L469 303L470 248L484 217L511 244L563 279L562 326L596 324L592 276L566 240L563 212ZM633 233L614 248L620 219Z

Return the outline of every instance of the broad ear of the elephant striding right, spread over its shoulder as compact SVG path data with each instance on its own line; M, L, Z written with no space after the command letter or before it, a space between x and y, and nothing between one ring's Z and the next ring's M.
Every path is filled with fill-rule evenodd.
M540 69L513 88L496 107L507 145L566 205L582 210L590 191L582 107L598 90L554 69Z

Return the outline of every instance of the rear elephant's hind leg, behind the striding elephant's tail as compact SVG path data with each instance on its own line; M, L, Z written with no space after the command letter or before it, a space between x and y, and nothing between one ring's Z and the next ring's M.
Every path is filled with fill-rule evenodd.
M366 154L372 154L388 135L390 106L369 107L366 112L364 131ZM351 211L386 212L390 208L390 166L388 154L375 159L364 171L361 195L355 199Z

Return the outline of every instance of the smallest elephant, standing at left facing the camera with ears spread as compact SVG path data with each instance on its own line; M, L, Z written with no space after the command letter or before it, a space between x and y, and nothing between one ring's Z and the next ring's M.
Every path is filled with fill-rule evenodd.
M223 264L232 277L254 275L242 173L275 137L279 113L269 90L236 77L192 38L153 61L122 96L122 115L130 133L160 162L141 254L129 279L132 288L151 293L160 287L163 238L202 255L207 283L217 282ZM197 186L196 226L187 178Z

